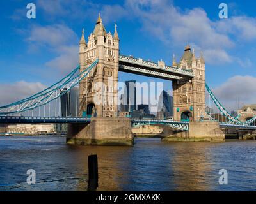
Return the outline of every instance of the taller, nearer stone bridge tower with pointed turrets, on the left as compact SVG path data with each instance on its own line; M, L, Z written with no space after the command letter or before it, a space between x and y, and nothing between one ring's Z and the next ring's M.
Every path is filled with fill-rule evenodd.
M88 37L88 43L84 38L84 30L79 43L80 71L99 59L97 66L80 82L80 116L117 116L118 57L119 38L116 25L112 36L110 32L106 32L99 15L93 33Z

